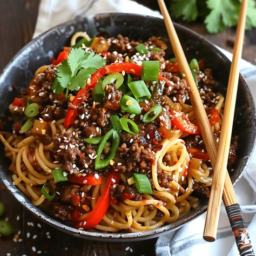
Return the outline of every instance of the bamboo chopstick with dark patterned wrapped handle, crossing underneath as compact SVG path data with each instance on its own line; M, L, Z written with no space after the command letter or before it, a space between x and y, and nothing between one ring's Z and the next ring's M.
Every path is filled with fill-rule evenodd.
M190 67L187 63L184 51L179 42L179 38L177 36L176 30L174 29L173 23L171 21L171 17L169 15L169 12L167 11L164 0L158 0L158 4L159 4L160 10L161 10L161 14L164 17L164 23L165 23L166 30L167 30L167 33L170 38L170 42L172 45L174 55L176 56L176 59L178 61L181 72L183 72L185 74L185 79L186 79L188 85L190 85L191 103L192 103L192 106L196 113L197 122L199 124L200 130L201 130L201 133L202 133L202 136L204 139L204 143L206 146L206 150L207 150L208 156L210 157L210 160L211 160L213 170L215 170L217 149L218 149L216 139L214 137L210 123L208 122L208 117L207 117L204 105L201 101L201 97L199 95L197 85L194 82L194 78L192 76ZM229 146L228 146L228 148L229 148ZM237 201L237 197L234 192L234 188L233 188L231 179L228 175L227 170L225 170L224 173L225 173L225 184L224 184L223 202L226 207L228 217L230 218L231 227L233 228L233 226L235 224L237 224L236 221L232 218L238 217L239 218L239 227L241 227L241 230L247 232L246 227L244 225L244 219L242 218L242 213L241 213L238 201ZM236 208L235 209L236 211L235 211L235 214L232 215L232 213L234 213L233 212L234 207ZM217 230L215 232L217 232ZM237 239L237 237L239 237L239 236L235 235L236 239ZM214 236L208 237L208 238L204 237L204 238L207 241L215 240ZM237 241L237 245L238 245L238 248L241 248L241 240ZM251 250L252 254L250 254L250 255L254 255L253 248L252 248L251 244L248 245L248 250ZM241 253L240 249L239 249L239 252Z

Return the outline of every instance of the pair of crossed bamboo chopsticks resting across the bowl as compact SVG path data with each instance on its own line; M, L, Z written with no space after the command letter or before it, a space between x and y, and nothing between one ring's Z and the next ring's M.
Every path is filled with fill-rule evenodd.
M179 63L181 72L185 74L185 79L191 87L191 103L196 112L197 121L214 170L211 193L208 202L208 210L206 215L204 239L206 241L215 241L216 239L222 196L224 205L226 207L227 215L230 219L230 224L235 235L235 240L237 241L239 253L241 254L242 251L244 251L246 248L246 251L249 252L246 255L254 255L251 242L248 242L248 244L245 245L242 244L241 241L242 234L244 234L248 238L247 241L250 241L250 237L246 230L241 209L238 204L237 197L235 196L231 179L226 169L232 134L235 99L237 96L239 63L242 52L242 42L244 40L247 0L243 0L241 4L237 35L235 37L233 60L230 70L230 78L228 80L228 89L226 95L224 118L219 140L219 149L210 123L208 122L208 117L204 105L201 101L197 85L194 82L190 67L187 63L184 51L179 42L179 38L177 36L176 30L174 29L164 0L158 0L158 4L164 17L166 30L171 41L174 55Z

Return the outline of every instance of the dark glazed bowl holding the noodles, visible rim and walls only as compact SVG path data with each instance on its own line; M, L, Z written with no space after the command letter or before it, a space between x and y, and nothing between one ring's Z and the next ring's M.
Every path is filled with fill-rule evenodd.
M224 93L230 70L230 60L221 53L213 44L206 41L196 33L175 24L179 39L183 45L188 60L192 58L204 59L206 66L213 70L214 78L218 83L218 91ZM66 22L43 33L28 45L26 45L6 66L0 77L0 119L8 114L8 105L17 95L12 85L17 89L25 88L37 68L43 64L50 63L50 57L57 56L64 45L69 45L72 34L76 31L86 31L89 35L117 36L119 33L132 39L147 39L151 36L161 36L165 42L169 42L165 31L163 19L133 14L100 14L79 18L75 21ZM170 45L169 45L170 46ZM170 48L171 49L171 48ZM172 52L167 53L172 56ZM254 146L256 137L255 107L253 98L244 78L240 76L237 105L235 110L233 134L240 137L238 162L231 173L232 183L235 184L246 169ZM4 155L3 146L1 147ZM172 232L185 225L188 221L198 217L206 211L207 201L201 201L199 206L192 210L186 217L147 232L139 233L103 233L77 230L66 226L33 206L14 185L12 185L11 172L8 171L9 160L0 159L0 176L6 187L14 194L15 198L28 211L42 219L46 223L77 237L91 240L105 241L131 241L143 240Z

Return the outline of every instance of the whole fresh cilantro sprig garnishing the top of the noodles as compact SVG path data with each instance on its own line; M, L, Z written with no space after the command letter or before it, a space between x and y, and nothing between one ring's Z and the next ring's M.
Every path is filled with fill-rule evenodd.
M58 67L56 78L52 84L52 91L59 95L65 89L67 92L77 91L86 85L97 69L105 66L106 61L94 52L85 52L82 48L73 48L69 58L63 60Z

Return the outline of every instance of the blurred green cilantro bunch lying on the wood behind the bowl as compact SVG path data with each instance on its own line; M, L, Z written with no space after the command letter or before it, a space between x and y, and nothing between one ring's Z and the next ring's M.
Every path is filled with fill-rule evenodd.
M241 0L172 0L170 13L184 21L205 18L206 29L210 33L223 32L238 22ZM248 0L246 29L256 27L256 6L254 0Z

